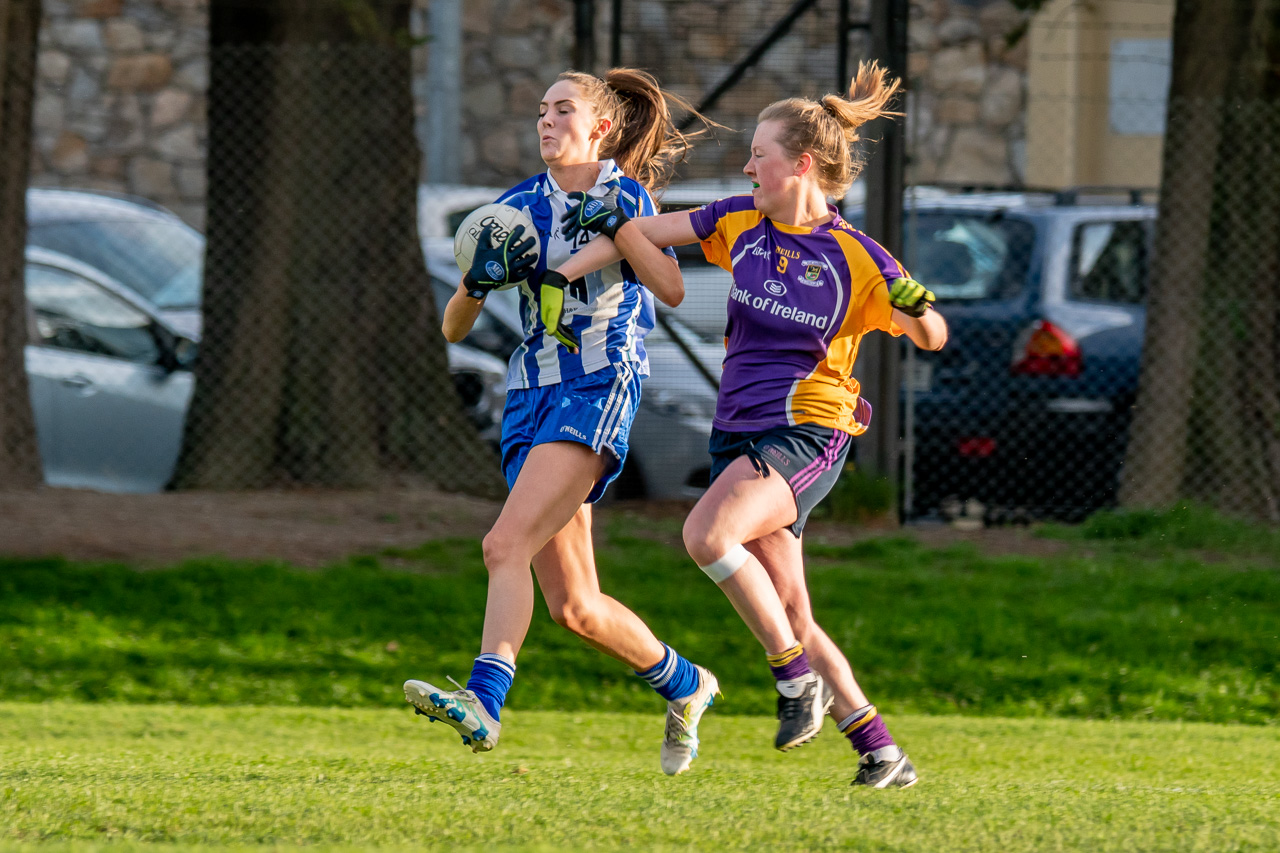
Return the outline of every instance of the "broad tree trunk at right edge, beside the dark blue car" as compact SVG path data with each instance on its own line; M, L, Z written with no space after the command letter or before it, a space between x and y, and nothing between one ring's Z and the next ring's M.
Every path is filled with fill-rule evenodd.
M1121 502L1280 520L1277 0L1180 0Z

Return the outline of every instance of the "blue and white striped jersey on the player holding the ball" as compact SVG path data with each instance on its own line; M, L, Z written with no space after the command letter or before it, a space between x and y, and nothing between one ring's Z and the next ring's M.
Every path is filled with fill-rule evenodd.
M622 174L613 160L602 160L600 175L588 195L599 199L613 187L621 190L618 205L628 216L649 216L657 211L644 186ZM498 201L524 209L534 220L541 242L539 272L556 269L585 246L589 238L595 237L582 231L573 245L564 240L561 216L568 210L568 193L559 188L549 172L512 187ZM667 250L667 254L675 257L672 250ZM566 289L567 323L582 342L577 355L547 334L538 311L538 293L527 282L520 286L520 314L525 325L525 342L511 356L507 368L508 391L556 384L617 362L632 362L641 377L649 375L644 337L654 324L653 295L640 284L635 270L626 261L591 273L581 283Z

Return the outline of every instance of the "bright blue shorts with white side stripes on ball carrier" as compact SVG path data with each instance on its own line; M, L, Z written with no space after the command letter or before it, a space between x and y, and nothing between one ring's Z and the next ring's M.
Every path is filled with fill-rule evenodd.
M611 364L554 386L508 391L502 412L502 474L507 487L516 484L532 447L577 442L602 453L609 464L586 496L588 503L595 503L622 471L639 405L640 375L630 364Z

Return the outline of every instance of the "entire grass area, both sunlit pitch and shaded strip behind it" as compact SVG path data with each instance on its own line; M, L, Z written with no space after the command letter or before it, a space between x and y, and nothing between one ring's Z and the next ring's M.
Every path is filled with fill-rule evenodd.
M497 753L415 720L401 683L476 652L475 542L321 570L0 558L0 848L1280 849L1275 530L1179 511L1046 529L1050 556L810 546L908 792L851 789L829 730L769 748L760 651L676 532L598 538L604 588L724 686L678 779L660 702L543 612Z

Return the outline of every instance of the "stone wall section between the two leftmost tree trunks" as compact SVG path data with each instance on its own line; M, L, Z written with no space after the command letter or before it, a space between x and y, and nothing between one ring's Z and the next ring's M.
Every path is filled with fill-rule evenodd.
M32 183L205 216L209 0L44 0Z

